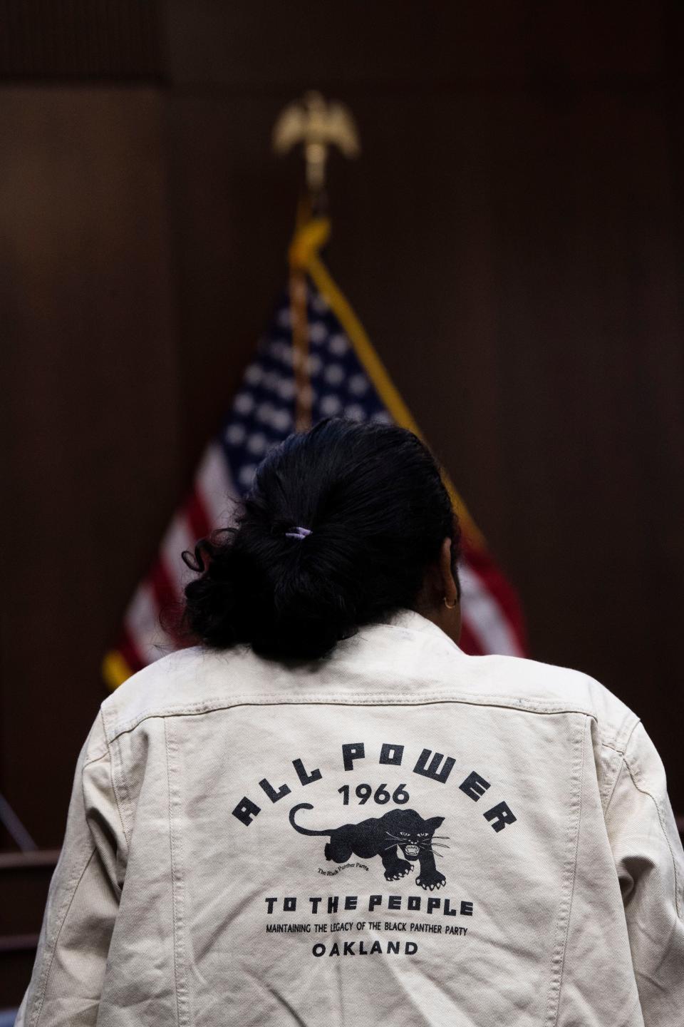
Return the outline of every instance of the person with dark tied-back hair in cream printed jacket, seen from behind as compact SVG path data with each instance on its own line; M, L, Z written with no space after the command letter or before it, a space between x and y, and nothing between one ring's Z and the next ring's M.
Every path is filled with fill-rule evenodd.
M201 540L196 644L102 705L19 1027L684 1022L684 853L638 717L458 647L411 432L327 419Z

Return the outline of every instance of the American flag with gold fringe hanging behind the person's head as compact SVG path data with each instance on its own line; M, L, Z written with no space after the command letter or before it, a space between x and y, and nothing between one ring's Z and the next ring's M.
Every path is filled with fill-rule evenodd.
M301 269L300 269L301 270ZM368 338L314 252L305 259L300 303L284 293L260 340L226 420L200 461L193 487L166 530L150 573L126 609L115 647L104 661L114 688L135 671L187 644L169 610L178 609L192 572L180 554L230 523L235 502L251 486L268 450L297 427L301 372L311 423L344 416L401 423L416 430ZM307 349L297 359L301 316ZM461 648L471 654L525 654L523 619L515 592L495 566L450 482L464 529ZM160 614L167 614L161 617ZM162 624L164 626L162 626Z

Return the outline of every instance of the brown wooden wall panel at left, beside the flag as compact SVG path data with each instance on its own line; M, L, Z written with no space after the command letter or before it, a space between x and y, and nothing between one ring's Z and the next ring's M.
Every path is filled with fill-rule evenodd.
M160 134L154 90L0 96L0 790L45 846L178 488Z

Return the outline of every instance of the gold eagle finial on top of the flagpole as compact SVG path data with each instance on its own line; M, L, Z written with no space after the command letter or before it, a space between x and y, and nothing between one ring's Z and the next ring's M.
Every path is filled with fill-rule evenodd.
M307 92L281 112L273 128L273 149L288 153L301 144L307 162L307 186L316 196L325 185L328 147L336 146L346 157L357 157L361 147L356 122L344 104L327 103L320 92Z

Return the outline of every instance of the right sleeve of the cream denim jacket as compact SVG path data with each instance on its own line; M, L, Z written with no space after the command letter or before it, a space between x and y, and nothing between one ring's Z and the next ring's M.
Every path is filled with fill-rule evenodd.
M665 769L641 723L628 743L606 810L646 1027L684 1015L684 852Z

